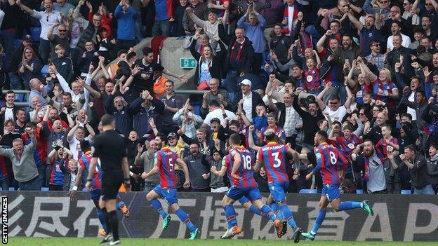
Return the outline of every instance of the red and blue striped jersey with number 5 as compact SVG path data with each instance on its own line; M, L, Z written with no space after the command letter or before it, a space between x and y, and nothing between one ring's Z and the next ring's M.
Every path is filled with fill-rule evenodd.
M168 147L164 147L154 155L154 165L159 168L160 184L163 189L176 188L176 160L178 155Z

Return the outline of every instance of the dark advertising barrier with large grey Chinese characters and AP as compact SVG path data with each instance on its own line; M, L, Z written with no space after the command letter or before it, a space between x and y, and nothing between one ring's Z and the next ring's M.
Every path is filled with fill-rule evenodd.
M267 194L263 194L263 202ZM99 220L89 193L78 192L77 200L70 200L66 192L6 191L8 199L9 236L27 237L95 237ZM189 231L171 214L172 221L162 231L162 219L147 203L144 192L121 193L131 210L131 217L119 212L122 237L129 238L187 238ZM288 194L288 205L294 212L298 226L310 230L317 217L318 194ZM178 193L179 204L196 226L203 239L220 238L226 221L220 193ZM438 200L436 196L403 195L343 195L343 200L370 200L375 212L369 216L364 210L334 212L330 206L326 220L319 229L318 240L383 240L437 241ZM4 199L2 199L4 200ZM164 203L164 201L163 201ZM168 206L164 204L164 210ZM237 238L275 239L270 221L244 210L236 203L237 220L243 233ZM289 228L285 239L291 239ZM288 235L288 236L287 236Z

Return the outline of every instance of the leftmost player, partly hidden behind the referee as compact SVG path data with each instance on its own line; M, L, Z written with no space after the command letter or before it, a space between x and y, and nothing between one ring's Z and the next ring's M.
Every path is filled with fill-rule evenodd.
M77 173L76 183L74 184L73 190L69 191L69 196L72 198L72 200L76 199L77 196L77 189L81 185L81 177L83 173L85 172L85 175L88 175L89 172L89 166L91 163L91 158L93 155L91 154L91 146L90 142L87 140L81 141L81 151L84 153L81 158L79 159L79 169ZM72 161L72 160L70 160ZM76 160L73 160L76 161ZM100 198L100 191L101 191L101 184L102 181L100 179L100 163L96 165L95 172L93 173L93 180L91 182L91 189L90 189L90 199L93 200L93 203L96 207L96 212L98 213L98 218L100 221L100 224L102 225L102 229L99 230L99 234L105 237L106 235L109 235L110 231L108 230L108 226L105 222L105 209L101 210L99 207L99 198ZM120 197L117 197L117 210L121 210L124 213L124 217L129 217L129 210L128 206L124 203L123 200L121 200ZM112 240L112 238L108 238L108 241Z

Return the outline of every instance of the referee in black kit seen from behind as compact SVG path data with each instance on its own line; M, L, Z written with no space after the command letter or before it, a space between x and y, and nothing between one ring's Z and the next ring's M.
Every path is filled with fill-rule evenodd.
M115 129L114 118L110 114L105 114L101 118L103 132L95 137L93 146L91 147L90 169L95 170L100 158L100 170L102 179L102 195L100 196L99 206L105 212L105 220L107 222L108 233L101 243L110 245L118 245L119 240L119 221L116 212L116 198L119 188L123 183L126 191L131 191L131 183L129 182L128 158L126 158L126 150L124 140L117 134ZM88 172L86 187L91 187L91 177L93 172Z

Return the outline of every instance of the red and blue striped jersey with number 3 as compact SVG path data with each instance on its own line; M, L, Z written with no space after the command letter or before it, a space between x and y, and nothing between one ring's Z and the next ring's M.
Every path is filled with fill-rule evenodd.
M257 158L265 163L267 182L289 182L286 173L286 165L288 165L286 151L288 149L289 146L277 144L277 142L268 142L258 149Z

